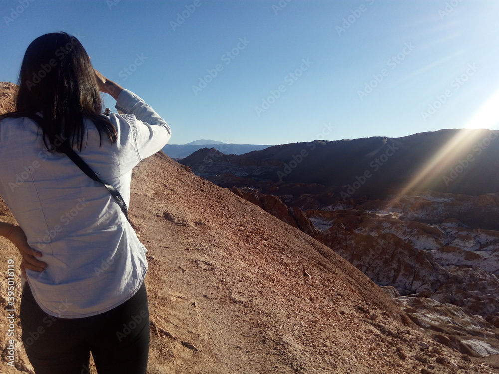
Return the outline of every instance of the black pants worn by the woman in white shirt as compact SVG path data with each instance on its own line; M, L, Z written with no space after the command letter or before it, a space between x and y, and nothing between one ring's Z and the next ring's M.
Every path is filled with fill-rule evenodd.
M36 303L26 283L21 300L22 341L36 374L145 374L149 309L144 284L110 311L84 318L55 318Z

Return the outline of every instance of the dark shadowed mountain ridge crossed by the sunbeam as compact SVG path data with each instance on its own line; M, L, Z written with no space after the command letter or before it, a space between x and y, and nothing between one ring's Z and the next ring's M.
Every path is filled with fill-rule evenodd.
M411 190L480 195L499 191L498 135L440 130L402 138L315 140L207 161L200 160L211 151L202 149L181 163L223 187L246 187L244 179L250 178L264 193L281 188L276 193L282 196L287 184L305 184L305 193L322 195L322 202L386 198L410 182Z

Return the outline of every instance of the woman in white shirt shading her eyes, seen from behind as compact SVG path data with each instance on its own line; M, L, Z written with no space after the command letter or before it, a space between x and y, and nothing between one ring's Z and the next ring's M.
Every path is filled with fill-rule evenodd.
M125 114L101 115L99 91ZM23 258L28 358L37 374L88 373L90 352L99 374L146 373L146 249L109 191L62 149L72 147L128 205L132 168L167 143L170 128L94 70L64 32L27 48L17 110L0 118L0 195L19 226L0 223L0 234Z

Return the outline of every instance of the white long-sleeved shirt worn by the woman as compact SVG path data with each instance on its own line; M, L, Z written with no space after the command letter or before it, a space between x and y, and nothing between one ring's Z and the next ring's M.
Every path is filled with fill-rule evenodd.
M167 123L140 97L123 90L109 116L118 131L111 144L88 119L82 152L75 151L127 206L132 168L161 150L171 136ZM0 121L0 195L47 263L26 270L40 307L61 318L108 311L132 297L147 271L146 248L109 191L65 154L46 150L29 118Z

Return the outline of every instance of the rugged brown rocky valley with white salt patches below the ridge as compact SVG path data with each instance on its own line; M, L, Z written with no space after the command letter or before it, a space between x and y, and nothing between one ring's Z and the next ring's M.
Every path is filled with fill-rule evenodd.
M253 201L249 194L242 197ZM477 201L494 202L497 197L458 199L474 201L471 206L476 206ZM439 209L444 216L459 205L451 194L411 193L396 202L367 202L357 209L329 206L327 211L309 210L306 215L310 221L302 221L301 227L307 227L308 232L310 225L320 229L311 235L382 286L435 340L496 362L499 232L473 229L455 218L436 224L438 214L411 208L431 206L431 201L444 204ZM279 216L277 210L271 212Z

